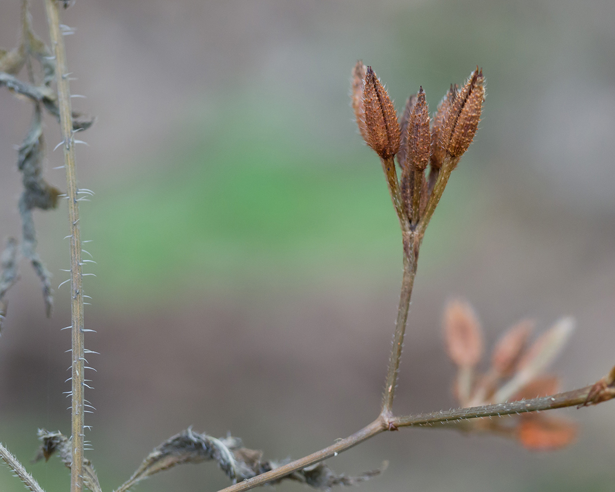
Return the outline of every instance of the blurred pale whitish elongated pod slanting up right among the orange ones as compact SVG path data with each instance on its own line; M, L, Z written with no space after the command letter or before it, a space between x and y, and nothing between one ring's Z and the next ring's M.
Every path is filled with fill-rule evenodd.
M565 317L539 336L522 355L513 378L496 392L494 402L505 402L544 371L563 349L573 330L574 320Z

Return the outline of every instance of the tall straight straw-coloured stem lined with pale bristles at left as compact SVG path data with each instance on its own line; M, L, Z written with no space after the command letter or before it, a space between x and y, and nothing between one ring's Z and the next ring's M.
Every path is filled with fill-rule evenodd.
M64 165L66 170L66 195L68 196L68 218L71 234L71 363L72 363L72 405L71 405L71 492L83 490L83 445L84 445L84 315L83 286L81 276L81 239L79 236L79 202L77 202L77 175L75 169L73 118L68 85L66 50L58 2L45 0L47 23L52 49L55 54L55 78L58 86L58 107L60 127L64 139Z

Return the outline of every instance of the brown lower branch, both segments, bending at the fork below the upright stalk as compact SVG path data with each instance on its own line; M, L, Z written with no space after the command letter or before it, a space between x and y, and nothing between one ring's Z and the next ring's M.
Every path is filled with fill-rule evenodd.
M323 461L331 456L335 456L342 451L346 451L352 446L355 446L369 438L380 434L381 432L390 430L397 431L398 427L416 427L429 426L430 424L443 422L451 423L459 419L475 419L490 416L510 415L513 413L527 413L531 411L553 410L555 408L574 407L581 405L587 399L590 389L593 386L585 386L580 389L558 393L542 398L534 398L532 400L520 400L518 402L499 403L498 405L485 405L483 407L461 408L459 410L438 411L421 415L407 415L403 417L389 416L385 418L380 415L378 419L373 421L366 427L363 427L358 432L355 432L345 439L339 440L335 444L323 448L320 451L309 454L305 458L297 459L282 467L276 468L271 472L266 472L256 477L244 480L244 482L236 483L228 486L218 492L244 492L256 486L264 485L265 483L278 480L286 475L292 474L296 470L305 468L314 463ZM437 428L437 427L436 427Z

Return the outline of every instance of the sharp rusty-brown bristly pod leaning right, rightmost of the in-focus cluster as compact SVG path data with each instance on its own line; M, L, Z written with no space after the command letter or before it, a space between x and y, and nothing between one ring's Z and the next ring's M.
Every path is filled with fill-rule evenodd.
M485 100L485 77L477 69L456 97L446 117L442 141L453 157L461 157L474 139Z

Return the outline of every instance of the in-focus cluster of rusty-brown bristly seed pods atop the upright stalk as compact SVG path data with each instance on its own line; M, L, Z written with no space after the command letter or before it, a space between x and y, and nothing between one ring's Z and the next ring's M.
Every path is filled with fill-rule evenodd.
M383 160L394 202L396 195L400 202L395 206L402 228L406 220L410 228L416 228L423 216L429 218L433 213L448 176L472 143L484 99L485 78L477 67L461 90L451 84L431 120L421 87L408 98L398 121L395 106L371 67L360 61L355 65L352 108L363 140ZM394 172L395 156L400 185Z

